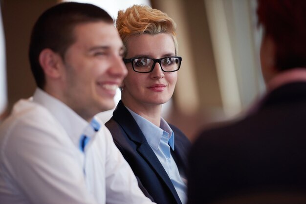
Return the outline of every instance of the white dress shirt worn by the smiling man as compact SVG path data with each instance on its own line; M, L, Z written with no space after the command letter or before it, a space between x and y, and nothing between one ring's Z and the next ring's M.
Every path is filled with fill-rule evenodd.
M98 119L96 119L98 120ZM101 123L89 123L41 89L0 126L0 204L149 204Z

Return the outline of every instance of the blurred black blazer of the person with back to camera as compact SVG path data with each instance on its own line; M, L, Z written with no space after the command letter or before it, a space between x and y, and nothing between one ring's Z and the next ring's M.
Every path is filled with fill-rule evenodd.
M306 189L306 82L285 84L258 110L202 132L191 148L188 204Z

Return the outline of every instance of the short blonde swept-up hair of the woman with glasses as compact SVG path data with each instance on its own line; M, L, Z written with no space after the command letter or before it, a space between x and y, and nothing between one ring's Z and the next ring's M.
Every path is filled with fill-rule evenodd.
M146 5L133 5L125 11L118 11L116 27L119 35L126 45L129 37L142 34L156 35L170 34L175 43L177 54L177 40L175 36L176 24L166 13Z

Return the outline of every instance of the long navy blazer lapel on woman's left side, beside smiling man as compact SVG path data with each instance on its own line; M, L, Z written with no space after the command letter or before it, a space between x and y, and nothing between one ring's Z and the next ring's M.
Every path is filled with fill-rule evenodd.
M117 108L113 113L113 118L124 129L128 137L134 143L137 143L137 152L147 161L147 163L149 163L152 169L161 178L161 181L163 181L169 187L175 197L176 202L180 204L181 201L167 172L165 171L162 164L159 162L158 158L156 157L151 146L147 142L139 126L135 122L134 118L131 116L131 113L121 101L118 103Z

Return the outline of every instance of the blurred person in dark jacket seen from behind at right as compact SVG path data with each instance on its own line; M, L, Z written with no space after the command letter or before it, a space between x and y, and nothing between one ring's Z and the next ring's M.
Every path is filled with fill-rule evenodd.
M250 192L305 195L305 11L306 1L258 0L267 93L244 119L199 135L188 157L189 204Z

